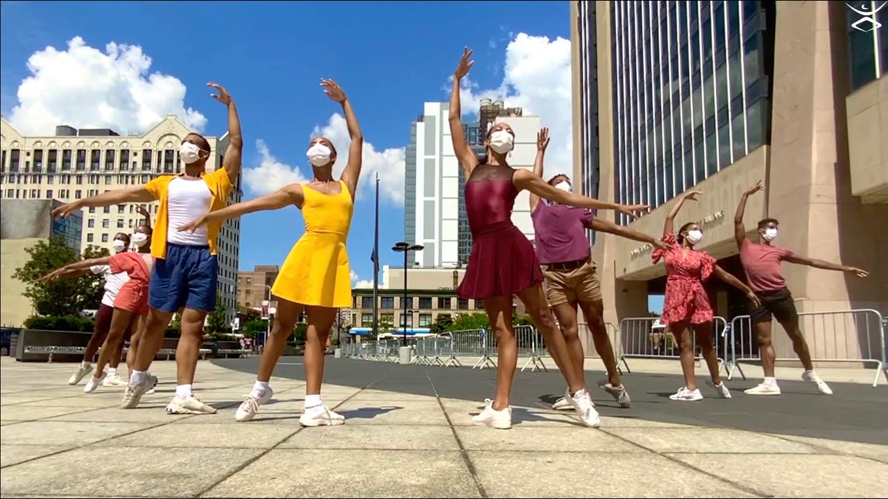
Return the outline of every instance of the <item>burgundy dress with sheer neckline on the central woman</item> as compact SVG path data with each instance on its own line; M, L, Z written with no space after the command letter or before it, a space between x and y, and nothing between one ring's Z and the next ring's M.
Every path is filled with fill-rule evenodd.
M534 246L511 223L518 195L514 173L508 166L480 164L465 184L472 255L456 288L461 298L511 297L543 281Z

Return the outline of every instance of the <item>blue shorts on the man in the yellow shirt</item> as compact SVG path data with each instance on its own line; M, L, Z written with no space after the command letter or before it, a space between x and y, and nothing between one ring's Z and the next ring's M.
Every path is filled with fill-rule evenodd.
M148 305L163 312L181 307L202 312L216 308L218 260L209 246L167 243L166 258L155 258Z

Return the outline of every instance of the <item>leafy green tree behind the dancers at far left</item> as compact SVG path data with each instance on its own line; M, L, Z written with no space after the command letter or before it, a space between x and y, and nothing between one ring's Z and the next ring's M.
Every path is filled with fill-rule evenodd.
M30 298L38 315L77 315L83 309L99 308L101 275L87 273L52 282L37 282L47 273L80 259L77 252L67 246L64 237L54 236L37 242L26 251L30 260L16 269L12 277L25 283L24 296ZM89 246L84 256L107 256L107 250Z

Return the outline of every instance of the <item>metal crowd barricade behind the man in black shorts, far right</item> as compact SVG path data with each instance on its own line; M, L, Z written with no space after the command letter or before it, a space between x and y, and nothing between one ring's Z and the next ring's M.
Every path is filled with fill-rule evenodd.
M847 362L876 364L873 386L879 383L880 374L888 379L888 363L885 359L885 324L882 314L873 309L839 310L832 312L806 312L798 314L798 326L808 343L814 362ZM772 321L771 337L782 329ZM731 321L729 341L725 343L725 368L728 379L734 369L746 375L740 362L760 362L755 331L749 315L734 317ZM781 342L775 347L776 361L798 360L791 342Z

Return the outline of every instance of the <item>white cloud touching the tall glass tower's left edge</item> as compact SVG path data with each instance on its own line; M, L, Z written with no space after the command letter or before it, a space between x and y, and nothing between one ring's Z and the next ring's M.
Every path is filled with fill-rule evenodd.
M477 59L478 51L472 57ZM472 70L477 72L479 65ZM547 170L571 170L570 40L519 33L506 46L503 81L498 87L480 89L471 76L464 78L460 93L464 113L477 114L478 101L488 97L502 99L507 107L522 107L524 115L540 116L551 137Z

